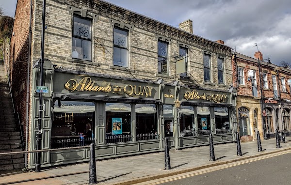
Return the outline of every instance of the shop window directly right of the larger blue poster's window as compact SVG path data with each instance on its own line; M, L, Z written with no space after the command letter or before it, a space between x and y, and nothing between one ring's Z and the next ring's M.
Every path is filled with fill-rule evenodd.
M158 116L155 104L136 104L136 140L159 139Z

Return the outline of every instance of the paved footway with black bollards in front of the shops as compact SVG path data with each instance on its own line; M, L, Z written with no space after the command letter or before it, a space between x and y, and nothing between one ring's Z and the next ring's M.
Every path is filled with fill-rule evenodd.
M236 143L216 144L213 162L209 160L209 145L170 150L171 170L164 170L163 152L97 161L97 183L132 185L291 150L291 138L286 138L286 140L286 143L280 143L280 149L276 148L275 139L262 140L263 152L258 152L257 141L241 143L242 156L237 155ZM89 163L52 167L38 173L13 172L0 175L0 185L85 185L88 184L88 180Z

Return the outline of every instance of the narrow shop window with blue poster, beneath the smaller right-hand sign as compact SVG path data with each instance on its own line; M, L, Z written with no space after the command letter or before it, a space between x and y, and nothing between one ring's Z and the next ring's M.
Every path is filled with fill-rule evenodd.
M197 121L198 121L198 134L210 135L211 123L209 107L197 107Z

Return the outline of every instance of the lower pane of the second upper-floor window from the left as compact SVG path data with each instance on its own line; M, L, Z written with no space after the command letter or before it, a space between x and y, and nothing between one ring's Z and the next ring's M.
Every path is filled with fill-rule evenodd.
M128 67L128 62L128 50L119 47L113 47L113 65Z

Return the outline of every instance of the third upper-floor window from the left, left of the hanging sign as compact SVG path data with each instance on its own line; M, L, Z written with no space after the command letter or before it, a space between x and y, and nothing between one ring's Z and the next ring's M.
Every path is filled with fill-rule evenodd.
M158 41L158 72L168 73L168 43Z

